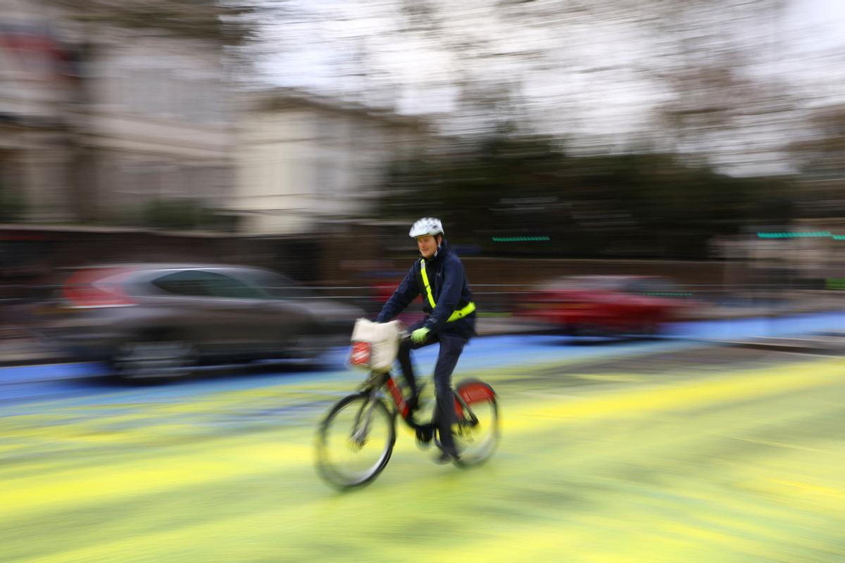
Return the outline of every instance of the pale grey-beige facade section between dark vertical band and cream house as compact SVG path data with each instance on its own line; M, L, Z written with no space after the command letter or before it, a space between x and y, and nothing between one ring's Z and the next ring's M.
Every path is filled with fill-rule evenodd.
M80 165L99 218L132 222L174 199L209 208L232 186L232 114L206 41L109 30L91 49L79 106Z

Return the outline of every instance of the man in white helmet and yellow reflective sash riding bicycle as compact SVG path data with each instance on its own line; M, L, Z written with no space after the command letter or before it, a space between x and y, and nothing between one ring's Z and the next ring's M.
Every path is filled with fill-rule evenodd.
M417 240L420 259L415 261L405 279L384 303L377 322L389 322L411 305L417 295L423 295L423 311L427 317L411 329L410 340L403 340L398 360L410 390L407 401L417 409L419 390L414 377L411 350L439 343L440 351L434 367L434 389L437 398L437 421L440 447L439 462L448 463L458 457L452 425L455 420L455 401L452 395L452 371L461 357L466 342L475 336L475 303L466 283L463 264L444 239L439 219L424 217L411 227L409 233ZM417 435L430 441L431 435Z

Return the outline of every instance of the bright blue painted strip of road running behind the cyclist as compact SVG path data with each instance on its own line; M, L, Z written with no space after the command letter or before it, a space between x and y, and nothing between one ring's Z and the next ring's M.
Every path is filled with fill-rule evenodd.
M657 354L700 345L701 340L736 340L759 337L801 336L822 332L845 332L845 311L777 318L730 321L681 322L666 327L662 339L652 341L612 338L571 338L548 335L506 335L475 338L458 365L461 372L553 361L590 360L635 354ZM419 373L430 373L438 347L417 350ZM157 385L128 385L106 377L96 364L28 365L0 368L0 415L20 412L23 405L53 399L79 404L108 401L173 401L207 392L264 387L305 380L337 381L350 389L363 373L346 367L346 348L333 349L322 359L321 369L301 365L232 366L216 368L205 376ZM17 406L16 409L12 409Z

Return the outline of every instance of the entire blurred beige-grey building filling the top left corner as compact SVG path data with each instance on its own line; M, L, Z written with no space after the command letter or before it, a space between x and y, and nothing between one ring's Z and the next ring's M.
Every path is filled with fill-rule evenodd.
M0 221L137 224L161 200L216 208L233 183L222 43L123 8L0 0Z

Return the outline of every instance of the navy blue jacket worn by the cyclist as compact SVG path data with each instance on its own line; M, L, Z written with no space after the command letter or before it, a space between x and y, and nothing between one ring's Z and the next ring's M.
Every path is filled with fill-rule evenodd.
M423 294L423 311L428 317L423 327L433 333L457 333L463 338L475 335L475 312L453 322L446 322L452 313L472 301L472 291L466 283L466 273L461 258L452 252L446 241L439 246L437 256L426 260L426 274L436 307L432 309L425 295L420 260L413 263L399 287L382 307L376 322L388 322L411 305L417 295Z

